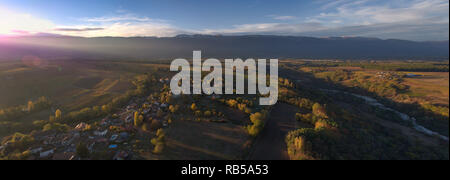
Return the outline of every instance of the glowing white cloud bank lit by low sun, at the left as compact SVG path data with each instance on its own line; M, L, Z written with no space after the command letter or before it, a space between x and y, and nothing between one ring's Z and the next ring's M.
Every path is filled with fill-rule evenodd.
M32 16L26 13L13 12L0 7L0 34L32 35L59 34L66 36L103 37L103 36L176 36L191 31L182 30L166 23L164 20L154 20L149 17L138 17L132 14L115 17L84 18L79 25L57 25L50 20ZM99 26L86 25L99 23Z

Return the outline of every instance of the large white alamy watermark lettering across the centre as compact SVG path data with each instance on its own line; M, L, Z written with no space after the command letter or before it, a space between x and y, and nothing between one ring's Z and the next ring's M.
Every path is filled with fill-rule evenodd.
M202 63L201 56L201 51L193 52L192 92L189 61L186 59L172 61L170 71L180 71L172 77L170 82L170 89L174 95L245 94L245 79L247 79L247 94L256 94L258 86L259 94L262 95L259 100L260 105L273 105L278 101L278 59L270 59L270 68L267 68L266 59L258 59L257 62L254 59L245 61L225 59L225 71L223 71L222 63L218 59L210 58ZM267 75L267 69L270 69L270 75ZM202 80L202 72L210 73ZM235 75L236 79L234 79ZM223 92L223 77L225 77L225 92ZM234 88L235 83L236 88Z

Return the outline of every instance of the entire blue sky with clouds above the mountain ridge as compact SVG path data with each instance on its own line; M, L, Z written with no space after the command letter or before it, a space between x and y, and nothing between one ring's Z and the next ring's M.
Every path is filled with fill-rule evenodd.
M449 39L448 0L0 0L0 35Z

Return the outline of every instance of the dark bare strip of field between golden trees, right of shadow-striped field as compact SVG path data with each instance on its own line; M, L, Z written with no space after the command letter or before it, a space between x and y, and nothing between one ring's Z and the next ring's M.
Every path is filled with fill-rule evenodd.
M285 103L275 105L249 159L289 160L284 139L289 131L296 129L296 112L297 108L294 106Z

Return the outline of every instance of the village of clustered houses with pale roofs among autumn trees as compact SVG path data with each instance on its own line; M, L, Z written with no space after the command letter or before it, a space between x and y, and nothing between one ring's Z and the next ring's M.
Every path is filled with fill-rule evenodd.
M161 78L159 82L168 84L169 79ZM169 127L165 118L168 104L159 101L153 95L133 98L125 108L99 122L81 122L66 132L33 132L31 136L37 143L29 147L28 159L82 160L88 158L87 154L94 159L140 159L136 154L139 146L149 144L157 130ZM135 116L141 122L136 122ZM3 144L0 150L9 144Z

